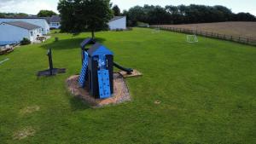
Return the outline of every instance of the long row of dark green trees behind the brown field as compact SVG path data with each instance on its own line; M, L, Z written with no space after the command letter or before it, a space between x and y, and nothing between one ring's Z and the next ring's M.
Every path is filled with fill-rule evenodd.
M128 26L136 26L137 22L150 25L160 24L191 24L223 21L256 21L256 17L249 13L234 14L224 6L205 6L191 4L189 6L167 5L165 8L153 5L135 6L124 10Z

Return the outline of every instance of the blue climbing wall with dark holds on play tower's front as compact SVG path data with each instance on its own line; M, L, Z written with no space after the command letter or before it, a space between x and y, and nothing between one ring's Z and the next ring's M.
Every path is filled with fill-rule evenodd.
M100 98L105 99L105 98L110 97L111 93L110 93L108 70L99 70L98 71L98 83L99 83Z

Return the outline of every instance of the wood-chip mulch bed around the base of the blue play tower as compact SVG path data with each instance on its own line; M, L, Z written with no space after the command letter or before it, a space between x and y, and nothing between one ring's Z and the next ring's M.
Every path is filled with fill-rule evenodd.
M131 101L131 96L125 79L119 73L113 73L113 96L108 99L95 99L89 95L88 88L79 87L79 75L67 78L67 89L72 95L86 101L92 107L102 107L110 104L118 104L125 101Z

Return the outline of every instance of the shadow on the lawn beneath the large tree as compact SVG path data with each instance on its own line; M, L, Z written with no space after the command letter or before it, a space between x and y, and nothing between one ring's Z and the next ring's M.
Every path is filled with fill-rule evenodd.
M43 49L55 49L55 50L63 50L63 49L78 49L80 48L80 43L84 41L85 38L70 38L70 39L60 39L58 42L51 42L42 45ZM96 38L96 42L102 43L106 41L105 38L98 37Z

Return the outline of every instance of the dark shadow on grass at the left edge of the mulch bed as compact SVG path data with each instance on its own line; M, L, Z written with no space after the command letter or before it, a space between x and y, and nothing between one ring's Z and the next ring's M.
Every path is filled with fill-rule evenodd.
M70 98L70 105L73 111L81 111L90 108L89 104L74 96Z

